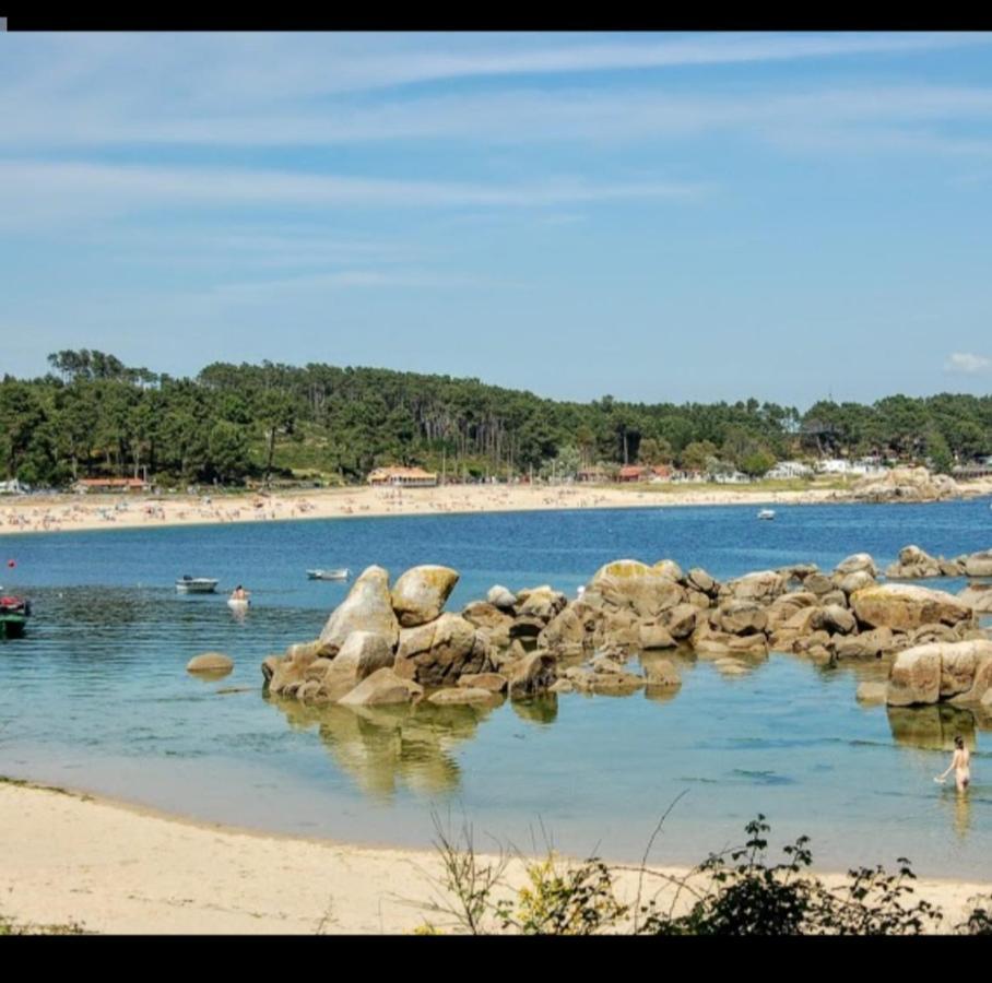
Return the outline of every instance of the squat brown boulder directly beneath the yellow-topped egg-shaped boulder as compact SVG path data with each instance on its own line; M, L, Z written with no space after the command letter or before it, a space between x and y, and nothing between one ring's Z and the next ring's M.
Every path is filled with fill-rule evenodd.
M395 672L422 686L454 686L464 673L488 668L488 639L484 631L456 614L400 632Z

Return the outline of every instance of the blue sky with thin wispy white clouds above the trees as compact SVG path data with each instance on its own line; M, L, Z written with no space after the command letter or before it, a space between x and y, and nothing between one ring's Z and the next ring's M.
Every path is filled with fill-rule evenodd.
M992 34L0 34L0 372L992 391Z

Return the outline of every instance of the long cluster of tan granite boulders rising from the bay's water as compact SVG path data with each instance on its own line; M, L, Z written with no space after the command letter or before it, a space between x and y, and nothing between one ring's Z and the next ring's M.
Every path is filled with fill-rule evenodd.
M969 562L985 569L987 561L992 565L992 553L948 561L907 546L887 573L953 576ZM547 584L516 593L497 584L460 614L445 612L458 577L447 567L414 567L390 589L386 570L367 568L318 639L264 660L269 691L345 706L485 704L504 696L623 695L641 687L666 699L681 684L675 656L711 660L730 676L748 672L770 651L823 664L953 653L984 640L976 611L992 609L992 585L972 584L955 596L883 584L864 553L832 571L796 564L727 582L669 559L619 559L601 567L574 601ZM634 659L642 672L628 668ZM941 672L932 656L919 664L920 656L913 659L887 686L893 706L904 706L907 692L911 701L923 694L924 702L934 692ZM876 701L881 694L861 698Z

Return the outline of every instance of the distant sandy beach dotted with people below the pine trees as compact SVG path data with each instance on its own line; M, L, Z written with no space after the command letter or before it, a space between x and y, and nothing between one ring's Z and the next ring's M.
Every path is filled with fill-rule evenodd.
M969 488L968 497L992 494L992 484ZM223 525L304 519L386 518L390 516L464 516L491 512L571 511L695 506L853 505L850 490L838 488L739 490L640 490L617 486L446 485L435 488L355 487L284 492L264 496L80 496L0 499L0 537L25 533L88 532L107 529L156 529Z

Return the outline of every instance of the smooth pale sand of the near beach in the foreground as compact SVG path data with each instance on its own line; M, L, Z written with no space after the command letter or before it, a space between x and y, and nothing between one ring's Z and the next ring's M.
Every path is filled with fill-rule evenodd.
M424 907L445 898L436 851L259 832L20 779L0 780L0 916L17 925L113 934L410 934L428 921L451 928ZM631 900L638 871L616 866L617 893ZM519 860L507 875L522 883ZM913 887L944 909L944 928L969 899L992 892L992 881L932 877Z

